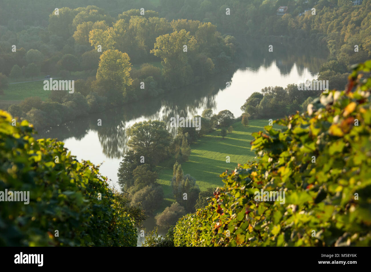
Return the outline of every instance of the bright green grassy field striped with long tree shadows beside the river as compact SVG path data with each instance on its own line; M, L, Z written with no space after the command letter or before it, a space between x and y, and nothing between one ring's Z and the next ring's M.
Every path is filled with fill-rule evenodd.
M228 133L224 139L218 136L220 130L205 135L191 145L191 155L188 161L181 162L184 174L190 174L196 178L196 184L201 191L209 187L223 186L219 175L226 169L230 173L238 163L243 164L253 160L255 153L250 151L250 141L253 140L251 134L264 130L266 125L268 125L268 120L250 120L247 127L244 127L241 122L235 122L232 124L232 133ZM226 162L226 156L230 156L230 163ZM166 164L169 162L164 162L162 165ZM160 165L156 171L158 172L157 182L164 189L165 208L175 201L170 185L173 168Z

